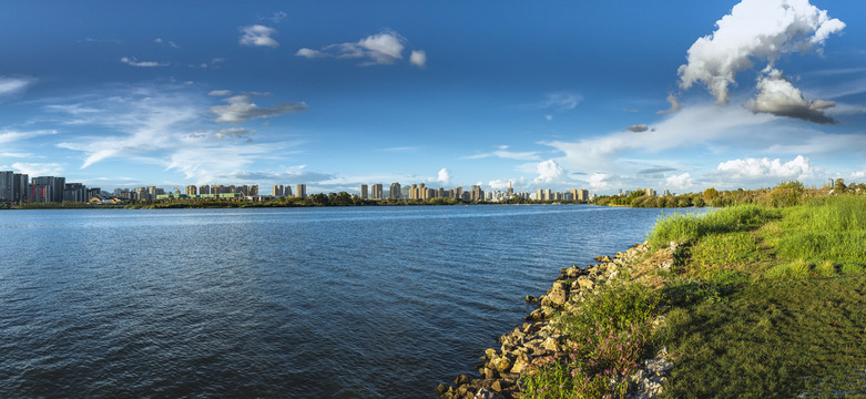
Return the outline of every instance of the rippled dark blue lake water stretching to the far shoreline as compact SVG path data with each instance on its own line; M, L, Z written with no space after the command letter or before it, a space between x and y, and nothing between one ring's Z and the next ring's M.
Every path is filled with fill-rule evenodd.
M0 396L435 398L662 212L0 212Z

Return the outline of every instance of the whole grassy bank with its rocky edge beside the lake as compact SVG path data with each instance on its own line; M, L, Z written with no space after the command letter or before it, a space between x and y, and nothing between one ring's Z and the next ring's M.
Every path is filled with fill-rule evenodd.
M674 214L643 244L562 269L478 375L437 392L866 397L866 196L780 187L775 203Z

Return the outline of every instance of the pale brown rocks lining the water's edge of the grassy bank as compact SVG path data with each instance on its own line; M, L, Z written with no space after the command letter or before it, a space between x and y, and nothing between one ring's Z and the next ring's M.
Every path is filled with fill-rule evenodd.
M652 278L649 272L669 269L673 264L675 245L669 249L648 254L650 246L638 244L624 253L599 256L600 262L585 268L572 266L561 270L547 295L539 298L527 296L527 301L537 303L538 309L526 317L521 327L499 337L499 349L485 350L479 365L479 377L461 375L454 385L440 383L436 391L444 399L509 399L518 398L520 374L533 361L546 357L564 356L563 348L570 346L566 337L551 323L551 317L560 311L577 310L584 298L594 295L598 287L611 280L629 276L630 279ZM652 285L652 282L645 282ZM658 321L658 320L656 320ZM655 358L646 359L630 378L634 388L630 398L653 398L661 392L666 372L673 367L666 360L666 350L659 351Z

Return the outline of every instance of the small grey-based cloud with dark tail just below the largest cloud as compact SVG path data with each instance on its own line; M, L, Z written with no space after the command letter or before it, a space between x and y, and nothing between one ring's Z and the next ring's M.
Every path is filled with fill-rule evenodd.
M836 105L833 101L803 99L799 89L776 69L758 79L757 96L751 102L753 112L765 112L777 116L796 117L815 123L837 123L824 111Z

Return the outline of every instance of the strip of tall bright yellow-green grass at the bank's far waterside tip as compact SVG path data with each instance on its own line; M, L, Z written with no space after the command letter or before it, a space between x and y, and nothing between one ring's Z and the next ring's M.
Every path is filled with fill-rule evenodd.
M753 231L781 215L778 209L757 205L735 206L702 216L673 214L655 224L649 241L658 249L670 242L695 242L707 235Z

